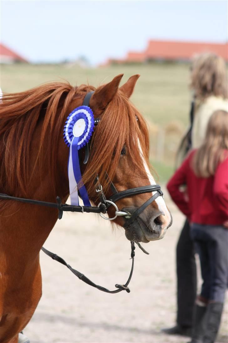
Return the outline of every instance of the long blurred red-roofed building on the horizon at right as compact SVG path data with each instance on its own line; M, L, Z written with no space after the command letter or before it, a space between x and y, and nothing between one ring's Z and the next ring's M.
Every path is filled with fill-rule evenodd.
M214 52L225 61L228 61L227 43L149 40L145 51L129 51L124 59L109 59L104 65L111 63L145 63L148 61L189 61L195 54L202 52Z

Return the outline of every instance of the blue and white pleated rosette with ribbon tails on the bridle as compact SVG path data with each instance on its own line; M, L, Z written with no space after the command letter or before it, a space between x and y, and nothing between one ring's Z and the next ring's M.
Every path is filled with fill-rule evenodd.
M90 206L90 200L85 186L82 184L78 150L89 142L94 129L93 111L88 106L75 108L67 117L64 126L64 141L70 147L68 159L68 178L71 205L79 205L78 184L80 196L85 206Z

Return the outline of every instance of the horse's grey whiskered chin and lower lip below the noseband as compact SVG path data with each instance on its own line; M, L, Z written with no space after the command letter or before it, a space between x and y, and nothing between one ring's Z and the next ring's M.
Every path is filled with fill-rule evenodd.
M127 239L143 243L162 239L165 233L166 229L162 230L160 225L156 225L153 229L148 229L148 225L139 217L125 229L125 236Z

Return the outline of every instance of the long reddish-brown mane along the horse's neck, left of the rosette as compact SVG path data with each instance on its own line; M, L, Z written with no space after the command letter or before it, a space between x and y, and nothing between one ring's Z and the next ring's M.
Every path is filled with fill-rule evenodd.
M50 82L25 92L5 94L0 104L0 185L4 192L28 194L29 182L39 157L45 150L50 163L50 181L56 186L56 149L63 122L73 99L82 97L94 87L73 87L66 82ZM30 145L42 120L39 149L33 172L29 170ZM44 139L48 143L44 146ZM39 165L41 168L41 164ZM29 174L30 171L30 174Z

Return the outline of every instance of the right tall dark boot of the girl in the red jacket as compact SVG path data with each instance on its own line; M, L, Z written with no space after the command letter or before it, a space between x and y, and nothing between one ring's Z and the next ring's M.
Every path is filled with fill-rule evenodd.
M221 316L223 312L223 303L209 303L206 310L206 327L203 343L214 343L218 333Z

